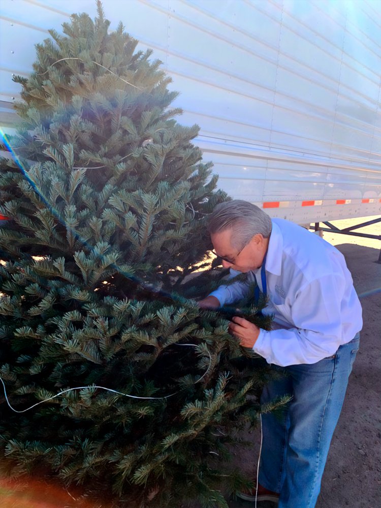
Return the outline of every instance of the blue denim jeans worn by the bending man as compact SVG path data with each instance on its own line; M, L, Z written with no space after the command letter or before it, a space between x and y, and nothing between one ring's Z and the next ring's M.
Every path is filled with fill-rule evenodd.
M357 334L333 357L314 364L272 365L287 375L264 388L261 402L293 396L281 418L262 415L259 483L280 494L278 508L315 506L359 340Z

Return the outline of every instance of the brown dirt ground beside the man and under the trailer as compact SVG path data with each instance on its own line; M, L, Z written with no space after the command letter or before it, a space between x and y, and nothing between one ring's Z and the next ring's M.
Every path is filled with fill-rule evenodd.
M372 218L377 217L337 220L333 224L343 229ZM356 231L381 235L381 223ZM324 233L324 239L345 256L362 303L364 327L316 508L378 508L381 499L381 264L376 261L381 241L331 233ZM247 437L259 443L260 431L255 430ZM257 448L258 444L255 451L237 453L237 465L256 471ZM229 501L230 508L253 505ZM275 505L262 502L258 506L273 508Z

